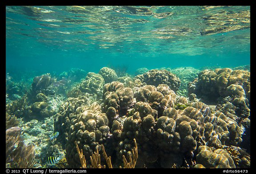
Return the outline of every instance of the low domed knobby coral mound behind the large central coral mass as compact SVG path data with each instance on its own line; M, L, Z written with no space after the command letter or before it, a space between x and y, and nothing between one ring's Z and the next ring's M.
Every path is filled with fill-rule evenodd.
M166 84L173 91L177 91L180 87L180 79L175 74L168 70L149 70L146 73L137 75L134 80L139 79L142 83L147 85L158 86L160 84Z

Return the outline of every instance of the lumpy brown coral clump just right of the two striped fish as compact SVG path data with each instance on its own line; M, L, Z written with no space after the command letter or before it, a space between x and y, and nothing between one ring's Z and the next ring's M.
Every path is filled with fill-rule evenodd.
M80 159L73 145L74 142L77 141L86 158L91 156L93 151L96 151L96 147L104 144L108 138L108 117L105 113L101 113L99 104L93 103L88 108L81 109L80 113L70 120L70 125L66 159L70 167L79 167Z

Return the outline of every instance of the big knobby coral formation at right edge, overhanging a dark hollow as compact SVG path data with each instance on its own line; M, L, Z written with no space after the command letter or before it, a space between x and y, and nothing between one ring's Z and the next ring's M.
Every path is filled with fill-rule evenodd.
M188 85L188 92L191 95L195 93L203 101L217 104L215 109L217 112L222 112L239 124L229 127L229 133L233 139L236 139L234 137L239 134L236 131L241 131L244 140L249 142L249 124L248 121L244 120L250 119L250 103L247 98L250 99L250 72L230 68L203 70L198 74L198 78ZM234 141L235 143L230 142L231 145L237 144L241 140L236 139ZM248 147L248 145L245 146Z

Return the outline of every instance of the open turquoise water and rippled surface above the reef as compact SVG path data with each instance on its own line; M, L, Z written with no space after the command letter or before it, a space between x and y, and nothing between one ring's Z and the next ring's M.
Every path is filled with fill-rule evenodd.
M250 7L6 7L6 68L250 64Z

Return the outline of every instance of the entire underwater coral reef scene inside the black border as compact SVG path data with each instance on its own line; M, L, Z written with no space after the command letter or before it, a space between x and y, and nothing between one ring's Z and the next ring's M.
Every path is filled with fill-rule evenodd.
M6 168L250 168L250 6L6 6Z

